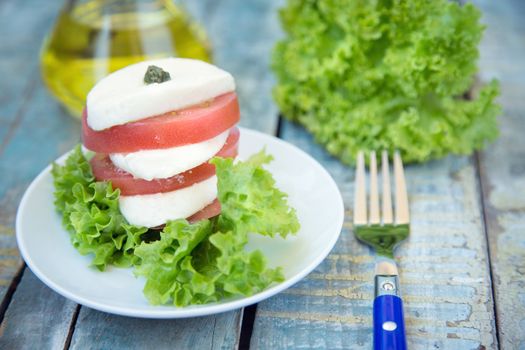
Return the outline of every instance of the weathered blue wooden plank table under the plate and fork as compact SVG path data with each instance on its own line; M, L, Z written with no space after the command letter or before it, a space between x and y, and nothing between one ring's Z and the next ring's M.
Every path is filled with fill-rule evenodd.
M79 142L79 123L39 78L62 1L0 1L0 348L370 349L373 257L352 234L353 169L279 120L269 56L280 1L186 1L216 63L237 79L242 125L318 159L347 208L337 246L307 278L257 306L185 320L94 311L42 284L20 259L14 221L33 177ZM412 349L525 349L525 3L475 1L488 24L480 77L501 81L501 137L472 157L409 166L413 229L398 251Z

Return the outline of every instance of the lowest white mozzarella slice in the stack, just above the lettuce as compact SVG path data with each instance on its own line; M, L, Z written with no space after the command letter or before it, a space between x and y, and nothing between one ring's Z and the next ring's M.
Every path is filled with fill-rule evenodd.
M120 196L120 212L126 220L137 226L155 227L169 220L190 217L217 198L217 177L180 190Z

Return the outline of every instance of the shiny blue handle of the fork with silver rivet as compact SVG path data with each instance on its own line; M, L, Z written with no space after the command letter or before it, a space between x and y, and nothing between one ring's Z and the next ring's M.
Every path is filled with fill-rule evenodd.
M404 350L405 321L403 301L397 295L380 295L374 299L374 349Z

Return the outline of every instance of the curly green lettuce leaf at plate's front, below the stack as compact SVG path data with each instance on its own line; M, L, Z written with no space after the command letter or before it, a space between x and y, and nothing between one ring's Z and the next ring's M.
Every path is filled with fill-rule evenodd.
M267 268L260 251L244 250L246 235L212 233L212 225L210 220L172 221L159 241L135 249L140 258L135 273L146 278L150 303L204 304L252 295L283 280L281 269Z

